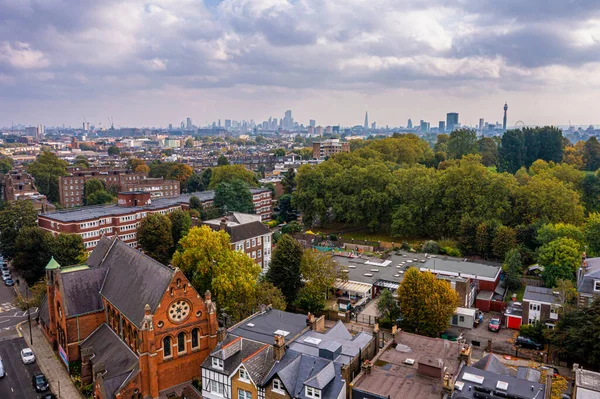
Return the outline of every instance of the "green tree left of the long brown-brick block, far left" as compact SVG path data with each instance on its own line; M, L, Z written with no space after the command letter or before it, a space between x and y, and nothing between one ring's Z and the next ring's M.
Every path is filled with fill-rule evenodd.
M68 165L54 153L44 151L27 166L27 172L34 177L39 192L48 197L48 200L57 202L60 199L58 177L67 175Z

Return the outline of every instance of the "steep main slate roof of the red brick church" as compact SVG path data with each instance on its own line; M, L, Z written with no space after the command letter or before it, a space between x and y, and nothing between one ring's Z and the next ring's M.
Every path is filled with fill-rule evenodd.
M121 240L115 241L102 266L108 273L100 293L138 328L144 306L156 311L175 273Z

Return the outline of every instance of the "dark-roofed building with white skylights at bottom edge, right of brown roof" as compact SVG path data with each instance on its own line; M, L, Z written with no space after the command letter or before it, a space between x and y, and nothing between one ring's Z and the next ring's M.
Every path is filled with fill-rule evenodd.
M477 363L465 365L454 382L451 398L520 398L543 399L550 387L539 380L511 376L510 371L493 354Z

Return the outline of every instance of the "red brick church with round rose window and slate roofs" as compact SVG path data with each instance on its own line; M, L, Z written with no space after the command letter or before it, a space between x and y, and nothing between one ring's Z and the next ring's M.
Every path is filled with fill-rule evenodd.
M42 330L67 367L81 361L95 398L181 395L217 344L210 292L118 238L103 237L85 265L52 259L46 278Z

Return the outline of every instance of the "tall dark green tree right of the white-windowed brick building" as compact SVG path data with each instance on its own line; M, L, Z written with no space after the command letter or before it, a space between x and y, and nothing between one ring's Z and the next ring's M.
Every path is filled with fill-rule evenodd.
M289 234L281 236L273 251L267 281L281 290L287 303L294 303L302 287L300 264L303 249Z

